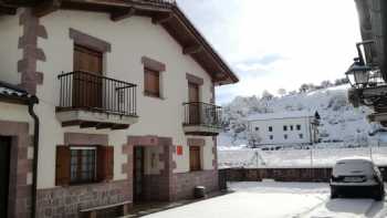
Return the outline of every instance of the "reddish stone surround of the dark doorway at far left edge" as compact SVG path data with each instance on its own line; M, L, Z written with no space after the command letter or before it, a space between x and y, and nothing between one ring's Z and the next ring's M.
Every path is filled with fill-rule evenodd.
M29 124L0 121L0 132L11 137L8 217L27 217L32 191L31 184L28 184L28 175L32 174L32 159L28 158L32 142Z

